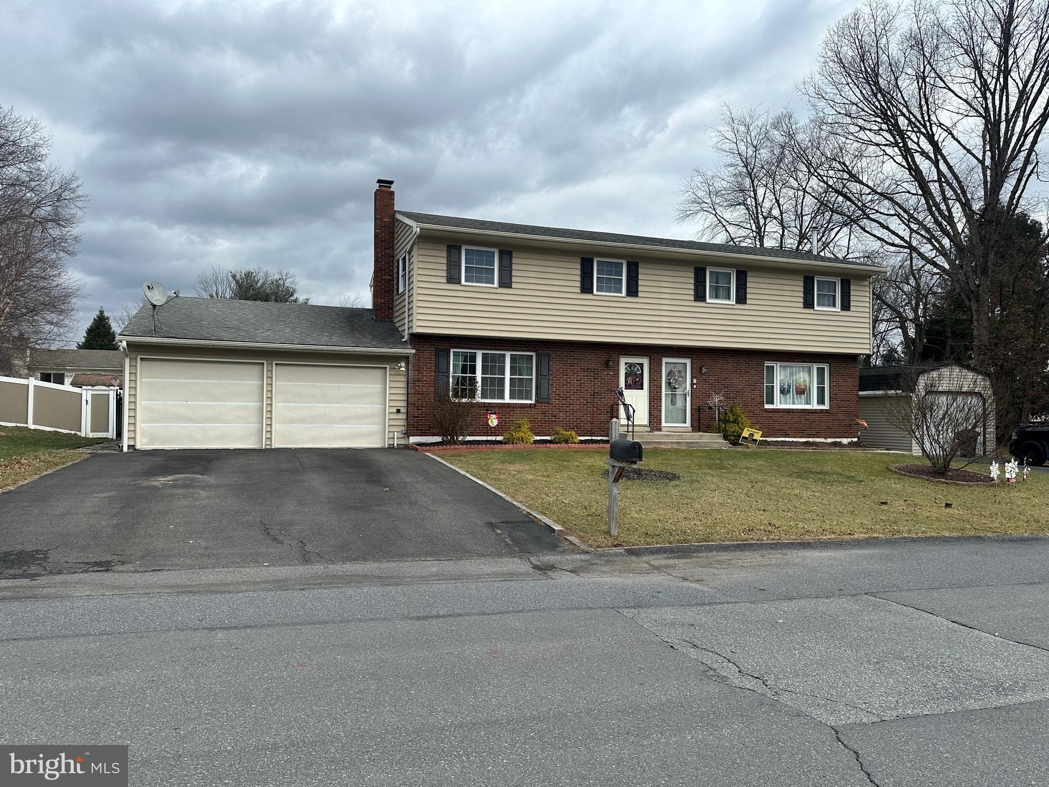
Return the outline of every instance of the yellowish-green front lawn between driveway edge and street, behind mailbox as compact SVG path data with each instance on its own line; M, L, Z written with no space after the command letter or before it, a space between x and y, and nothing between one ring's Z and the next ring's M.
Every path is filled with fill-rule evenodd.
M965 487L891 472L889 465L921 461L900 454L652 449L640 466L681 480L620 483L619 535L612 538L605 455L521 450L444 459L593 547L1049 534L1049 476L1039 473L1011 487Z

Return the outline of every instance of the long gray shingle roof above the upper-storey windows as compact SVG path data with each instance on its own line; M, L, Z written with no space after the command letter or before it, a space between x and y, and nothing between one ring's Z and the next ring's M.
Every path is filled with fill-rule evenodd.
M402 216L410 218L419 225L440 227L449 230L475 230L506 235L534 235L544 238L562 238L565 240L592 240L599 243L621 243L623 246L647 246L654 249L681 249L686 252L711 252L714 254L745 254L752 257L771 257L795 262L822 262L825 264L858 265L882 270L879 265L852 259L836 259L819 254L795 252L788 249L759 249L753 246L731 246L729 243L707 243L700 240L678 240L675 238L650 238L643 235L620 235L613 232L591 232L588 230L566 230L559 227L536 227L533 225L514 225L506 221L484 221L478 218L459 218L457 216L438 216L433 213L411 213L398 211Z

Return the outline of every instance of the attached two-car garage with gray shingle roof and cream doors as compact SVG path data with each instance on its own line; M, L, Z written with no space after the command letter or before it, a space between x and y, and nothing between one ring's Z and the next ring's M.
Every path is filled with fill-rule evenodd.
M413 350L370 309L171 298L124 345L127 448L398 445Z

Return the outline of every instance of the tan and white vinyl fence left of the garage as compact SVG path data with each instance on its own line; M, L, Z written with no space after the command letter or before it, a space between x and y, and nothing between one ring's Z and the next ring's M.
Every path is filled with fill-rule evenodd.
M116 437L116 389L0 377L0 425Z

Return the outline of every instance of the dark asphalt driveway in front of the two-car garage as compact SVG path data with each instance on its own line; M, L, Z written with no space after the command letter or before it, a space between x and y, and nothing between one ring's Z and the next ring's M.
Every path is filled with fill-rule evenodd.
M0 577L556 551L498 495L406 450L102 453L0 494Z

